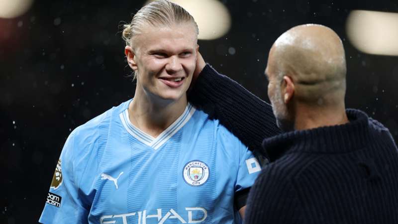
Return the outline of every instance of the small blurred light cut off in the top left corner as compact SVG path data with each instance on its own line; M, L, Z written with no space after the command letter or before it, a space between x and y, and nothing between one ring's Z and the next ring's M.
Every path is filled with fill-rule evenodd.
M0 0L0 17L14 18L29 10L33 0Z

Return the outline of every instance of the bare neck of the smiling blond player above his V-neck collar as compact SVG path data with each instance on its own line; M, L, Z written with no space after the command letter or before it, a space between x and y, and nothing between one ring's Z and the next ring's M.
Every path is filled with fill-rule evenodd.
M136 89L134 100L128 106L130 122L145 133L157 137L169 127L187 107L187 96L177 101L160 99Z

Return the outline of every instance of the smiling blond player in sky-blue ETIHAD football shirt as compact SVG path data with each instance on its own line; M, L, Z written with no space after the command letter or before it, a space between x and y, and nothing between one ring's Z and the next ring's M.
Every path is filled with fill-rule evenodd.
M239 223L260 165L187 102L197 35L193 17L166 0L125 25L134 99L71 133L40 222Z

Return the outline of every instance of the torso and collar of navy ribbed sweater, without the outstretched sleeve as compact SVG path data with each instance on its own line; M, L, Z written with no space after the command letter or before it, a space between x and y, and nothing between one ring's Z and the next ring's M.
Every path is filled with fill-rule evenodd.
M247 201L245 224L398 224L398 152L382 124L349 123L267 138L271 163Z

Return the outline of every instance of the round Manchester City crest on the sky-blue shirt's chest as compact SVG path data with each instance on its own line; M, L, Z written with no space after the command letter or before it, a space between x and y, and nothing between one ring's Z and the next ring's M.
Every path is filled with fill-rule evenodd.
M210 175L208 166L199 160L193 160L185 164L183 178L191 186L201 186L206 183Z

